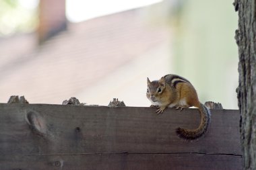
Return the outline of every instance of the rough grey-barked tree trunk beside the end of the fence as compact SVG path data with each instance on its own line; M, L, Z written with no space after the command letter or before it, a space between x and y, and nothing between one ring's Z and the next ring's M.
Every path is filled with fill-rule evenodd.
M240 129L244 169L256 169L256 0L235 0L238 11Z

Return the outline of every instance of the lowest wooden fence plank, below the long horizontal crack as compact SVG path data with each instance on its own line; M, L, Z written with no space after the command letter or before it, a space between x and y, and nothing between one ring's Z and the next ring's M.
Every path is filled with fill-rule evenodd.
M234 155L183 154L84 154L84 155L26 155L18 161L1 159L2 170L241 170L242 159Z

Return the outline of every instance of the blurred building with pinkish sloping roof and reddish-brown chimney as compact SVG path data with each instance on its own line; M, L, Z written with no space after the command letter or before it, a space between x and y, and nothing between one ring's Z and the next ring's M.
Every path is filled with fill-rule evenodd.
M1 38L0 102L25 95L30 103L148 103L146 77L170 65L168 29L147 22L146 8L72 24L63 18L63 1L51 3L40 3L37 32Z

